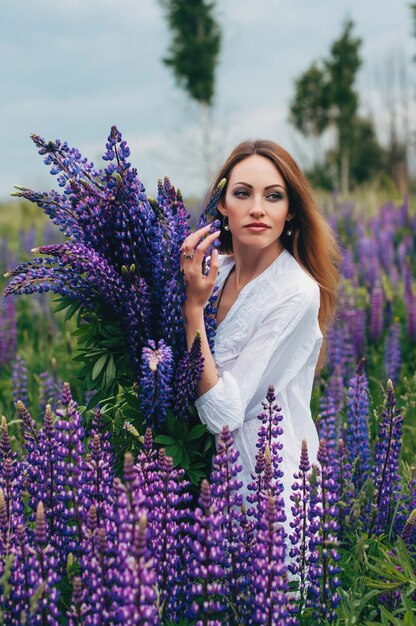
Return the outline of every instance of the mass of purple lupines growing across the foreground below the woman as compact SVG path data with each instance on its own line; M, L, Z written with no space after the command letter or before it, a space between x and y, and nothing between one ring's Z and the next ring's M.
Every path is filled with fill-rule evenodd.
M403 596L416 606L416 487L401 484L402 418L390 381L386 394L371 453L360 363L336 449L323 418L318 464L304 441L285 493L285 419L269 388L247 502L224 428L196 506L184 470L154 449L150 428L140 452L124 455L120 478L101 411L86 429L68 384L40 427L17 402L24 450L12 449L5 418L0 436L2 623L281 626L402 615ZM375 574L353 622L357 581L341 565L357 550Z

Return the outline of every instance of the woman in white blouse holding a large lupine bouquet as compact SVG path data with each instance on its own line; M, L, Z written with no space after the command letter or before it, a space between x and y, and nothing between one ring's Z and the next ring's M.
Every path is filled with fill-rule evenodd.
M293 158L271 141L238 145L221 168L215 188L220 230L209 226L183 243L187 285L184 320L190 346L201 332L204 369L196 407L211 433L233 431L243 466L244 495L255 471L257 415L274 385L282 409L283 483L288 503L301 442L316 461L318 436L310 411L322 337L335 307L339 251ZM210 270L204 254L215 239ZM204 306L218 285L214 355L204 329ZM290 516L286 506L286 515Z

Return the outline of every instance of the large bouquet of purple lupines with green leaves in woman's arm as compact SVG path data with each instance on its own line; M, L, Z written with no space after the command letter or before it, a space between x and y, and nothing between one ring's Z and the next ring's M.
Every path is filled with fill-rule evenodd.
M187 351L182 319L179 257L190 225L181 194L165 178L157 198L146 195L116 127L100 170L67 143L32 139L62 191L20 187L15 195L41 207L67 240L35 249L42 256L9 271L4 294L58 294L57 310L67 309L66 319L77 314L75 360L86 389L95 391L88 408L106 400L103 413L112 421L117 450L133 445L126 422L139 436L151 426L175 465L197 483L212 439L192 408L202 357L198 336ZM211 342L212 311L209 304Z

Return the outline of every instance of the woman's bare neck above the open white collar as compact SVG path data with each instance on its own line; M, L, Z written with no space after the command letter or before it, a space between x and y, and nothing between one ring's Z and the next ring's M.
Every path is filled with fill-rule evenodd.
M248 249L244 246L234 248L234 282L238 291L264 272L283 252L284 248L280 241L276 244L262 250Z

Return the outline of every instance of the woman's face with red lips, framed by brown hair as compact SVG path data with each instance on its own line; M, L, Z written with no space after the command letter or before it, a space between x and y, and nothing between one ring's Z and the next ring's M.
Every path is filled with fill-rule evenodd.
M228 217L234 250L282 250L279 237L292 215L286 183L270 159L253 154L237 163L218 208Z

